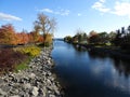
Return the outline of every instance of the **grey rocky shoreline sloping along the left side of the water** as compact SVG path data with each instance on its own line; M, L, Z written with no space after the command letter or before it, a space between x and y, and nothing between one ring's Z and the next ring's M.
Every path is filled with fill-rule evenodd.
M44 47L31 59L29 68L0 77L0 97L63 97L60 83L51 72L52 47Z

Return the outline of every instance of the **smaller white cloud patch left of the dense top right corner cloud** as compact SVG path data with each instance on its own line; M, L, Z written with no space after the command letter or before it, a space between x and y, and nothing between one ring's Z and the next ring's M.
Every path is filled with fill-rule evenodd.
M98 10L100 12L104 12L104 13L108 12L110 9L106 8L104 5L104 3L105 3L105 0L100 0L92 5L92 9L95 9L95 10Z

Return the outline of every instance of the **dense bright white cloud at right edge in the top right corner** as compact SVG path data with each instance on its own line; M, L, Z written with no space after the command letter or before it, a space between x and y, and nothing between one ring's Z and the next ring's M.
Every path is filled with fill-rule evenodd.
M129 2L116 2L114 6L113 14L119 16L129 16L130 17L130 3Z

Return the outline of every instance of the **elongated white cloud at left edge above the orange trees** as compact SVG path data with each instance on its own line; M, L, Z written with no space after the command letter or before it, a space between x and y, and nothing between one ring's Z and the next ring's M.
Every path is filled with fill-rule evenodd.
M0 13L0 19L2 20L22 20L22 18L10 15L10 14L4 14L4 13Z

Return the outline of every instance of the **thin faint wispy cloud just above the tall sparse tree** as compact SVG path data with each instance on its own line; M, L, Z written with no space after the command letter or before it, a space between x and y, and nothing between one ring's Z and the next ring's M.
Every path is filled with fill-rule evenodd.
M47 13L56 14L56 15L63 15L63 16L67 16L70 13L69 10L64 10L64 9L60 9L58 11L54 11L51 9L42 9L42 10L37 10L37 11L47 12Z

